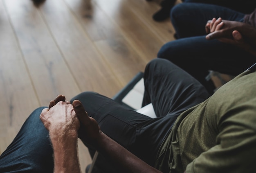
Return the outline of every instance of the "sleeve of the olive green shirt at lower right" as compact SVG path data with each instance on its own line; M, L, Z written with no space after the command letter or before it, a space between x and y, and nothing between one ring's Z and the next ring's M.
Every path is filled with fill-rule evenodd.
M253 107L253 108L252 108ZM252 109L251 109L252 108ZM255 106L240 105L220 120L216 144L186 167L186 173L253 173L256 163Z

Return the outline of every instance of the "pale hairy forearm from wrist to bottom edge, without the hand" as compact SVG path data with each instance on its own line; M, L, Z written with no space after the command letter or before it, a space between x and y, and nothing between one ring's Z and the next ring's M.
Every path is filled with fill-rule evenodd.
M54 151L54 173L81 173L77 138L53 136L50 134Z

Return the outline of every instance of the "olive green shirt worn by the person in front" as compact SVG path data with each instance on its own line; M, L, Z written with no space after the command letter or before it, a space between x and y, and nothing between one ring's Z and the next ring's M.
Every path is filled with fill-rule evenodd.
M256 173L256 72L183 112L159 149L164 173Z

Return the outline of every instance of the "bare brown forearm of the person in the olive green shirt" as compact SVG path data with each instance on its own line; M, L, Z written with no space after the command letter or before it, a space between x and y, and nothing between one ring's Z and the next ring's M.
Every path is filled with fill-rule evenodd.
M96 144L99 153L122 173L161 173L101 132Z

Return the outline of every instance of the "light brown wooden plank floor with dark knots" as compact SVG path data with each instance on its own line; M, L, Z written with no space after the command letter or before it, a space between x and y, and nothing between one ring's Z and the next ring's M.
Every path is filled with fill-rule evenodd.
M29 114L58 94L114 96L173 40L159 0L0 0L0 153ZM91 162L79 141L82 171Z

